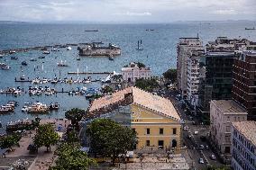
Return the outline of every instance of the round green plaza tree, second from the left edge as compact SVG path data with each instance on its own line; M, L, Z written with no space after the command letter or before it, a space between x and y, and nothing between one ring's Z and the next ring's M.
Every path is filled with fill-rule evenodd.
M47 151L49 151L51 145L57 144L58 141L59 135L50 124L40 125L33 139L34 144L38 148L44 146L47 148Z

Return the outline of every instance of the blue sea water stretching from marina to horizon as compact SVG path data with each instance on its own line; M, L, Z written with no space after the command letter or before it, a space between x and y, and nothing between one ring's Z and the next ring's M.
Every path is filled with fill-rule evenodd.
M0 89L6 87L21 86L28 90L29 83L15 83L14 77L27 76L30 79L40 76L53 78L59 75L70 77L69 71L116 71L132 61L140 61L151 67L155 76L160 76L169 67L176 67L176 48L179 37L197 37L197 33L204 44L209 40L215 40L217 36L228 36L230 38L247 38L256 41L256 31L245 31L245 27L253 27L256 22L195 22L195 23L169 23L169 24L42 24L42 23L0 23L0 49L27 48L44 45L103 41L105 45L114 43L122 49L122 55L114 58L89 58L82 57L77 60L78 50L60 49L50 52L45 58L39 59L41 50L32 50L26 53L16 53L0 58L0 62L7 63L11 70L0 70ZM153 29L154 31L145 31ZM85 30L98 30L88 32ZM143 50L136 50L137 40L142 40ZM11 56L18 60L11 60ZM30 58L37 58L32 62ZM22 67L21 62L27 61L28 66ZM66 60L69 67L57 67L57 62ZM43 65L43 69L42 69ZM75 78L76 75L73 75ZM81 78L85 75L80 75ZM103 78L105 76L93 76ZM45 86L45 85L42 85ZM87 85L48 85L57 89L64 88L69 91L77 87L98 87L99 83ZM64 113L73 108L87 109L88 102L84 96L69 96L58 94L53 96L32 96L22 94L14 97L12 95L0 94L0 104L9 100L15 100L20 106L15 112L0 115L0 121L5 125L8 121L17 121L24 118L32 118L36 115L21 112L24 102L39 101L50 104L60 103L58 112L50 112L40 117L61 118ZM2 129L3 130L3 129Z

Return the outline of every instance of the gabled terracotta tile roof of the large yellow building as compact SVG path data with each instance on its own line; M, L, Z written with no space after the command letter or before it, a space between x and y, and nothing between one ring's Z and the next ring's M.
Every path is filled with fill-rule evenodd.
M137 87L128 87L112 95L106 95L96 99L91 104L88 112L94 112L101 108L111 106L114 103L118 103L119 101L122 101L127 94L132 94L133 104L137 104L152 112L180 121L178 112L168 99L145 92Z

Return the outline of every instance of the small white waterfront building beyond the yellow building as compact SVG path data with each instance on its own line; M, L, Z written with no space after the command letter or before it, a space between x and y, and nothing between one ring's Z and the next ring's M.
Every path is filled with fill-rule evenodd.
M136 82L137 79L151 79L150 67L139 67L137 63L130 63L121 69L123 81Z

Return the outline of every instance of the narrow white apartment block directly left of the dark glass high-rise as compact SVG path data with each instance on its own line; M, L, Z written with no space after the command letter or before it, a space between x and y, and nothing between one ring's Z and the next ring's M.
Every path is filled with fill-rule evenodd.
M199 62L204 52L204 49L191 50L187 58L187 99L193 106L198 106Z

